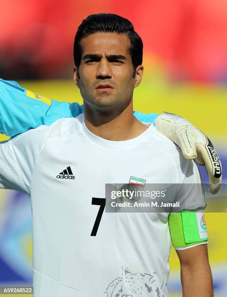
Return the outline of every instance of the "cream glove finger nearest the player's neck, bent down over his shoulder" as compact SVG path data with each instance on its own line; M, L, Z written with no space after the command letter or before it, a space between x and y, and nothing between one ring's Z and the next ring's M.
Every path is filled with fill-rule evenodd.
M184 128L177 132L178 146L186 159L195 159L197 157L195 148L195 139L189 129Z

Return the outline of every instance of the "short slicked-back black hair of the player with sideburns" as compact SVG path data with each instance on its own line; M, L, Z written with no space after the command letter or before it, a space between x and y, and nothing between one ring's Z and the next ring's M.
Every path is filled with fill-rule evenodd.
M132 23L122 16L114 14L95 14L83 19L74 40L73 56L77 69L81 64L82 50L80 41L83 37L96 32L127 34L130 39L130 55L134 69L143 63L143 41L134 31Z

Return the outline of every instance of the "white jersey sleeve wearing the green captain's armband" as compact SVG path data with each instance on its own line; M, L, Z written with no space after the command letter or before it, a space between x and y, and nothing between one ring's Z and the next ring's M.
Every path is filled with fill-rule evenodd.
M200 173L195 162L185 162L184 180L179 184L175 202L177 207L169 214L168 224L172 244L176 249L186 249L206 244L208 233L204 216L206 202ZM184 169L183 169L184 170Z

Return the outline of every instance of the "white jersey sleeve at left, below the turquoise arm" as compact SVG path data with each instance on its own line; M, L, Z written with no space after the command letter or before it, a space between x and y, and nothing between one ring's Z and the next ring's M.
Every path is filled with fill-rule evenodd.
M50 130L42 125L0 142L0 188L30 194L34 166Z

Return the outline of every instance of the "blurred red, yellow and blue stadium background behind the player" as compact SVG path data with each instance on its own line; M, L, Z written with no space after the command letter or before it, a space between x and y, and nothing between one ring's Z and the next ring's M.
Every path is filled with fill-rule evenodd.
M226 0L1 0L0 77L60 101L82 102L72 80L74 34L89 14L129 18L144 42L134 110L182 115L213 141L227 183ZM0 135L0 140L7 139ZM203 181L208 182L204 168ZM214 296L227 296L227 214L207 213ZM0 285L32 283L30 198L0 190ZM171 249L171 297L181 296ZM27 295L28 296L28 295ZM202 292L201 292L202 296Z

